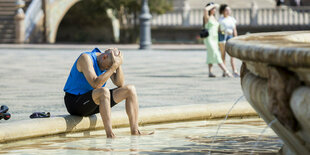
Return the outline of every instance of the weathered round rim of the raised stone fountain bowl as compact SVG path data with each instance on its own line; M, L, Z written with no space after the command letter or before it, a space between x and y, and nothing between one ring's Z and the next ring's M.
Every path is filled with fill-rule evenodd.
M309 34L309 35L307 35ZM304 38L298 41L294 38ZM309 38L308 38L309 36ZM235 37L226 44L229 55L285 67L310 67L310 31L253 33Z

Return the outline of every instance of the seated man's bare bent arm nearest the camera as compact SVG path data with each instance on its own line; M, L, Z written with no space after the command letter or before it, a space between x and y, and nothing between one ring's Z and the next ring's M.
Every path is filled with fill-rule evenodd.
M101 88L102 85L108 81L111 75L119 67L118 64L114 63L105 73L100 76L96 75L96 72L93 68L93 62L87 54L80 56L77 62L78 71L82 72L88 81L88 83L94 88Z

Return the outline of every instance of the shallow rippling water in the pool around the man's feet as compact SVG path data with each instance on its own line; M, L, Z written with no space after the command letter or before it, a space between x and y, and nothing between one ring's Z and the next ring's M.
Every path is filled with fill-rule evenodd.
M154 131L149 136L129 136L128 128L115 129L116 139L106 139L103 130L67 133L15 143L0 144L0 153L14 154L93 154L93 153L195 153L212 154L276 153L282 141L267 129L257 147L257 137L266 124L259 118L232 119L221 128L212 144L217 124L221 121L193 121L141 127ZM240 130L242 129L242 130Z

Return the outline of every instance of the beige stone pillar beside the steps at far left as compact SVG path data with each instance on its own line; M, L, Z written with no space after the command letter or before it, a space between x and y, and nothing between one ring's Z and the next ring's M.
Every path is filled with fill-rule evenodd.
M15 19L15 43L22 44L25 41L25 13L22 9L25 6L23 0L16 1L17 12L14 17Z

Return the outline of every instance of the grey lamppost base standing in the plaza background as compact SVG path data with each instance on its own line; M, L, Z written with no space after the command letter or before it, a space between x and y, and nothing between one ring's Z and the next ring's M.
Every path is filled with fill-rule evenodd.
M151 41L151 19L148 1L143 0L140 18L140 49L150 49Z

